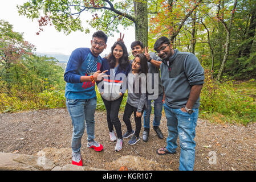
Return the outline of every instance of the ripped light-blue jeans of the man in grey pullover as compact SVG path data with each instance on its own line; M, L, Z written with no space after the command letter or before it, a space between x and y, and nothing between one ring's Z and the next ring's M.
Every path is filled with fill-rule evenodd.
M180 139L180 171L192 171L194 168L194 155L196 142L196 126L198 109L193 109L192 114L185 113L180 109L172 109L164 104L167 119L168 137L166 149L169 152L176 151L177 138Z

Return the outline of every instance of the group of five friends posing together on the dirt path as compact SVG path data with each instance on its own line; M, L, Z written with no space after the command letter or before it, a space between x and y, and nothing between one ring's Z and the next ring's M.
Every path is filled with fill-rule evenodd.
M64 73L66 105L73 125L72 164L82 166L81 139L87 131L87 147L102 151L103 146L95 141L96 92L99 88L107 111L109 137L116 142L115 151L123 148L123 138L131 138L128 144L140 140L141 118L144 131L142 139L148 142L152 101L154 103L153 130L160 139L162 106L167 119L168 137L166 147L156 154L176 154L177 137L180 139L180 170L193 170L196 142L196 123L200 92L204 84L204 69L192 53L179 52L172 48L165 36L157 39L156 52L140 41L131 44L133 60L129 60L124 36L111 47L111 53L101 58L107 47L107 35L96 31L92 35L91 48L77 48L70 56ZM161 73L161 74L160 74ZM149 92L148 88L154 92ZM123 121L127 127L122 134L118 114L124 93L128 91ZM156 91L156 92L155 92ZM134 115L135 130L131 115ZM115 129L115 130L114 130ZM115 134L116 133L116 134Z

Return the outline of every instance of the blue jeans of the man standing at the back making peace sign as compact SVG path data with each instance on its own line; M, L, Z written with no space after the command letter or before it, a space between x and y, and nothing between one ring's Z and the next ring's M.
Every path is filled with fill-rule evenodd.
M159 97L154 100L155 104L154 104L154 121L153 121L153 126L159 126L160 125L160 120L162 117L162 96L163 94L159 95ZM144 120L144 128L150 128L150 114L151 114L151 102L152 100L147 100L147 107L144 111L143 114L143 120Z

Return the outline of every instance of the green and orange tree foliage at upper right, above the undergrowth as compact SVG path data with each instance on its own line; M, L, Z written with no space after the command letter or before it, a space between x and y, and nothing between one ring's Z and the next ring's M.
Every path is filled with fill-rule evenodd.
M203 1L200 6L182 24L188 11L197 1L158 1L148 3L148 10L155 12L149 14L149 45L151 48L160 36L171 37L180 26L181 29L173 40L173 47L180 51L192 52L193 16L196 17L195 55L205 68L212 68L216 77L224 59L227 32L222 19L229 25L234 1ZM219 9L220 8L220 9ZM229 56L225 64L224 74L236 80L255 77L255 13L256 0L238 0L234 11L233 25L230 30ZM218 18L218 16L220 18ZM254 22L254 26L253 26ZM206 31L205 26L209 31ZM210 46L213 50L213 55ZM251 47L244 53L245 47ZM214 58L212 64L212 57Z

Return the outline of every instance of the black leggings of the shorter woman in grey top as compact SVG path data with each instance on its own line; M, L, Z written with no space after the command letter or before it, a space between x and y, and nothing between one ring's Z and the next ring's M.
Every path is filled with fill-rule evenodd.
M145 106L143 107L143 110L141 111L141 116L142 116L144 110L145 110ZM131 118L132 113L134 114L135 126L136 126L135 127L135 136L138 138L140 135L140 129L141 129L141 117L139 117L139 118L136 117L136 111L137 111L137 107L133 107L133 106L129 105L128 103L126 103L125 109L124 109L123 120L127 127L127 131L131 132L132 125L131 125L130 118Z

